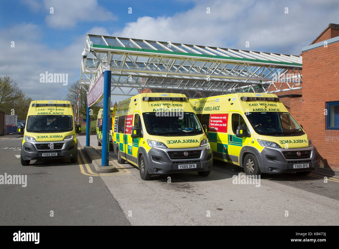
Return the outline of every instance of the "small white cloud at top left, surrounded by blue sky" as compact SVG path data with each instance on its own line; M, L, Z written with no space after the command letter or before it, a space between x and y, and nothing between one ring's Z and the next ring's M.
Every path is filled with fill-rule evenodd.
M97 0L44 0L46 23L53 28L73 28L78 22L117 20ZM50 14L53 8L54 14Z

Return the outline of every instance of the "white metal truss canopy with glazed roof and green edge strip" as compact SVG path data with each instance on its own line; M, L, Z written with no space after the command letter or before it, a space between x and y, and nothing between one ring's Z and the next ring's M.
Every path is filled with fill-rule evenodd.
M273 81L288 73L301 82L302 57L296 55L89 34L85 50L90 54L81 61L81 84L90 90L111 70L114 95L149 90L198 98L301 88Z

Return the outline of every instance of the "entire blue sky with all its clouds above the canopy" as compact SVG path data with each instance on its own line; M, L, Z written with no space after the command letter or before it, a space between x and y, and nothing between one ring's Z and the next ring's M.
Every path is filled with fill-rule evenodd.
M76 81L86 33L299 55L338 19L337 0L2 1L0 75L33 99L63 99L68 86L40 83L39 75Z

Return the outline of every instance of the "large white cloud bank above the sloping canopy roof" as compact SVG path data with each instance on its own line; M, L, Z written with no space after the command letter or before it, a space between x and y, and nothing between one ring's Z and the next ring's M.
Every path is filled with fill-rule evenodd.
M211 14L206 13L210 8ZM288 7L289 14L285 14ZM197 1L172 17L139 17L115 36L300 54L327 27L338 23L338 1ZM245 47L246 41L250 47Z

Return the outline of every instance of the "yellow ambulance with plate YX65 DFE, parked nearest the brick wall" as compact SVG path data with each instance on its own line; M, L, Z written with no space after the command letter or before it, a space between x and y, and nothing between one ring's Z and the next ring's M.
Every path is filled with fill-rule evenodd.
M239 165L247 175L305 175L319 165L312 141L274 94L236 93L190 103L214 159Z

